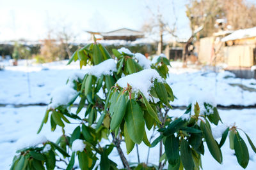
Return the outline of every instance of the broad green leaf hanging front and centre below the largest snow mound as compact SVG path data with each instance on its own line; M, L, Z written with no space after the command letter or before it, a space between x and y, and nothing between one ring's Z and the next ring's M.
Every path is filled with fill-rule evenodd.
M127 102L124 118L127 123L127 131L132 141L140 144L144 136L145 123L140 105L134 101L134 99L130 99Z

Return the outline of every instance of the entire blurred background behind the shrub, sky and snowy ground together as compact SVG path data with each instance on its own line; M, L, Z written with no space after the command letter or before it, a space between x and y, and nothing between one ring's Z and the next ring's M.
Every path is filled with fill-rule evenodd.
M223 122L236 122L255 143L255 0L0 0L0 169L10 168L20 138L35 136L52 90L88 68L67 62L93 37L111 55L121 47L149 60L163 53L177 97L170 116L182 115L190 97L206 97L216 101ZM47 124L41 134L56 141L61 129L51 132ZM204 169L242 169L228 145L221 165L206 150ZM255 169L249 152L247 169ZM122 167L117 152L111 157Z

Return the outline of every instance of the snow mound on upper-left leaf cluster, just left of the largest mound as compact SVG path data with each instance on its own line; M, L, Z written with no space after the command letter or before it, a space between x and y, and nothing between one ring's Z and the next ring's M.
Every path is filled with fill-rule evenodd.
M104 60L100 64L91 67L87 70L88 74L92 74L97 78L100 78L102 75L111 75L113 72L116 72L116 62L114 59Z

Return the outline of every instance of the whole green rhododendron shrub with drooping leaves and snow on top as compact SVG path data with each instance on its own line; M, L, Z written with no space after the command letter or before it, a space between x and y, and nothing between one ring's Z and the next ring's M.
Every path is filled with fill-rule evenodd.
M83 170L118 169L109 157L113 148L117 149L125 169L200 169L205 146L221 164L221 146L228 133L237 162L246 168L249 153L239 134L241 130L221 125L211 99L191 101L184 115L172 117L175 96L165 81L170 62L164 55L150 62L144 55L126 48L114 49L113 54L111 57L104 46L95 42L72 55L68 64L79 60L80 67L92 67L82 76L69 78L66 86L54 91L38 131L49 121L52 131L60 126L63 134L56 143L46 140L41 145L18 150L11 169L77 169L74 166L77 160ZM70 108L75 106L76 99L80 101L76 113L72 113ZM82 112L84 107L86 111ZM65 132L65 125L70 122L77 124L71 134ZM212 128L215 125L218 126ZM148 140L148 130L158 133L152 143ZM214 139L216 136L221 136L220 143ZM247 134L246 137L256 152ZM102 138L108 139L109 144L102 145ZM159 165L141 164L140 160L130 164L120 147L122 142L127 154L142 142L149 148L159 146ZM60 166L57 161L64 163Z

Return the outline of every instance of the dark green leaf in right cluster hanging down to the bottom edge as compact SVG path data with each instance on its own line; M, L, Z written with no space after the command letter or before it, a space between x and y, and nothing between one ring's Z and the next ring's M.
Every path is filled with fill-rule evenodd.
M186 170L193 170L195 167L191 148L189 147L188 141L182 139L180 143L180 159Z

